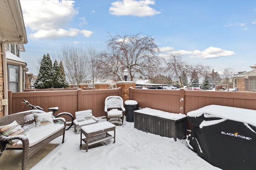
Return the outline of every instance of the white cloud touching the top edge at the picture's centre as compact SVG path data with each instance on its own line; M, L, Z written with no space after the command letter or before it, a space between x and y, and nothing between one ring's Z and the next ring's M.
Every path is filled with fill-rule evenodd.
M160 14L161 12L149 7L149 5L154 5L155 2L152 0L123 0L111 3L109 8L110 14L116 16L154 16Z

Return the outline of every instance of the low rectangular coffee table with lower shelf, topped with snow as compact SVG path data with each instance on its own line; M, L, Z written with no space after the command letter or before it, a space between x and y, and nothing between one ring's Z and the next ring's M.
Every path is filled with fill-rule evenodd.
M114 136L110 135L108 131L114 131ZM82 139L82 134L86 138ZM80 147L82 147L82 141L86 144L86 152L88 151L88 146L106 141L108 139L114 138L114 143L116 142L116 125L104 121L101 123L95 123L92 125L86 125L81 127L81 137L80 137Z

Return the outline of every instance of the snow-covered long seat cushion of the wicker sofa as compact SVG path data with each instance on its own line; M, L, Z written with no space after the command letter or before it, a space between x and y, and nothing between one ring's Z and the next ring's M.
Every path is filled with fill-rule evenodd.
M26 133L26 137L28 137L29 147L36 145L37 143L43 141L44 139L50 137L56 132L60 131L64 127L64 124L54 124L50 123L47 126L39 126L30 129ZM9 145L6 144L6 148L22 148L22 141L18 141L17 145Z

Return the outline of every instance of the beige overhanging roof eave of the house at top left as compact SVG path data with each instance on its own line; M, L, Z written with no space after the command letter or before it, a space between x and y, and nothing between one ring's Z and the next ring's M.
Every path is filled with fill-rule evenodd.
M20 51L25 51L23 44L28 40L20 1L0 0L0 40L20 41L20 37L24 38L23 43L18 44Z

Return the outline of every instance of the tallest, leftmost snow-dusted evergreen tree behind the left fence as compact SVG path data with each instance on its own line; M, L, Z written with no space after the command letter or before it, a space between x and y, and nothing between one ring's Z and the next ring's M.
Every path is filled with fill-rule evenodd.
M34 86L35 88L51 88L52 86L52 60L49 54L43 56Z

